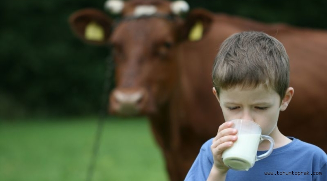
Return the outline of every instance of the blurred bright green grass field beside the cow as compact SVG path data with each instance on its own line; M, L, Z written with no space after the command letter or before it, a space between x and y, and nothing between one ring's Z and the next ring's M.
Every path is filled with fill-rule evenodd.
M86 180L97 121L0 122L0 180ZM168 180L146 119L105 120L93 180Z

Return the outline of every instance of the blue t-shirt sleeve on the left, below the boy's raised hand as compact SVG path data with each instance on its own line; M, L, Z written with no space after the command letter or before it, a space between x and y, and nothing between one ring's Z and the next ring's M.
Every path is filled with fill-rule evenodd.
M213 158L210 149L211 144L212 139L202 145L198 156L186 175L185 181L207 180L213 165Z

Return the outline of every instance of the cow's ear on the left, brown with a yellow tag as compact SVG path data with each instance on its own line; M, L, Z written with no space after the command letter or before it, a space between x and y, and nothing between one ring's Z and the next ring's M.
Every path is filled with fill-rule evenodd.
M96 9L83 9L69 17L69 25L78 38L94 45L105 45L110 37L112 20Z

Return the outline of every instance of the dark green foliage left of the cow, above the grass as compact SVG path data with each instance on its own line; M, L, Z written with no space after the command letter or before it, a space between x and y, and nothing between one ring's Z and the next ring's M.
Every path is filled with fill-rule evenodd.
M67 19L75 10L100 9L102 3L2 1L0 97L8 98L1 100L1 115L98 111L108 50L80 42Z

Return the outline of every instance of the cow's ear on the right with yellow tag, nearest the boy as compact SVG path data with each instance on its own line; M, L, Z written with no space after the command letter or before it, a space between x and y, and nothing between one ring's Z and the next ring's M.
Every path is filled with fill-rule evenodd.
M180 40L199 41L209 31L214 15L204 9L192 10L181 26Z

